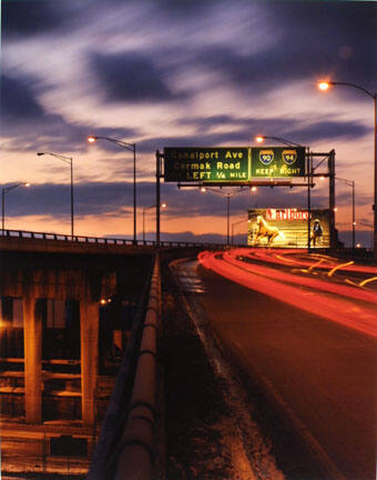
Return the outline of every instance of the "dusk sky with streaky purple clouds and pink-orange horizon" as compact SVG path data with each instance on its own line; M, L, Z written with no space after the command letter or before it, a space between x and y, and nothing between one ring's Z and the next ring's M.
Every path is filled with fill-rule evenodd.
M267 0L2 0L1 159L6 228L133 236L136 146L137 238L155 202L155 151L247 147L274 136L336 152L336 176L355 181L356 240L371 246L377 2ZM269 142L269 144L272 144ZM278 143L274 143L278 144ZM248 208L305 208L306 188L224 188L217 194L162 182L162 240L223 241L225 192L235 240ZM316 182L314 208L328 206ZM336 182L336 227L350 244L351 189ZM153 209L144 210L154 239ZM242 221L244 220L244 221ZM370 227L369 227L370 226Z

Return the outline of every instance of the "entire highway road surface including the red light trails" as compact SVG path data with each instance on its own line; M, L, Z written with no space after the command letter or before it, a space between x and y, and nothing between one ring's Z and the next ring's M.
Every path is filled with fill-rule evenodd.
M240 249L177 271L193 311L309 447L315 478L376 479L376 267Z

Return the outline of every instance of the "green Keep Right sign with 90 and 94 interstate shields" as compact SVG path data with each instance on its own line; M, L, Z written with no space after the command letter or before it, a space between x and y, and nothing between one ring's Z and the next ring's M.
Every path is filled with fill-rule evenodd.
M251 176L304 177L305 147L253 147Z

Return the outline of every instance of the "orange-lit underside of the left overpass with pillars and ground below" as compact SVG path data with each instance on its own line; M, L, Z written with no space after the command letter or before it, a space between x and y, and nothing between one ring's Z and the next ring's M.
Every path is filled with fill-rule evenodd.
M2 469L82 474L154 251L21 247L0 249Z

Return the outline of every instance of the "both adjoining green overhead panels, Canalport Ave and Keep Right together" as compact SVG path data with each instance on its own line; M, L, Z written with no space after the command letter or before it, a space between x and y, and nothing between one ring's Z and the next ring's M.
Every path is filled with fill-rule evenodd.
M247 182L255 177L303 176L304 147L164 149L164 179L167 182Z

